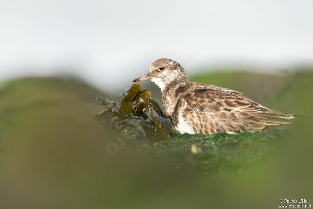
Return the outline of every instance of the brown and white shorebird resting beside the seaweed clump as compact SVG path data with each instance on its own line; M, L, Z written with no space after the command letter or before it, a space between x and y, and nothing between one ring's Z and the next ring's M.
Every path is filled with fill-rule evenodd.
M166 115L181 134L237 134L271 125L291 124L294 116L243 96L243 92L190 82L178 62L159 59L133 82L151 80L162 91Z

